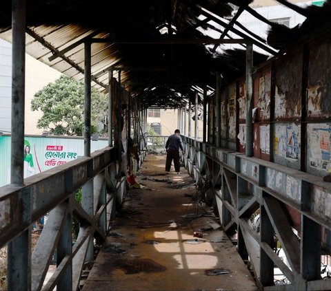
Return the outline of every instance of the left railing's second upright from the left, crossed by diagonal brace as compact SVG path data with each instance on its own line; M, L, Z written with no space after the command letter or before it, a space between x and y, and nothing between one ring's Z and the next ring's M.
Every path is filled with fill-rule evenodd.
M72 212L71 212L71 202L69 198L66 202L66 208L70 209L66 215L63 230L61 232L61 237L59 244L57 245L57 266L61 261L72 253ZM71 290L72 289L72 264L68 264L66 270L61 275L59 283L57 283L57 290Z

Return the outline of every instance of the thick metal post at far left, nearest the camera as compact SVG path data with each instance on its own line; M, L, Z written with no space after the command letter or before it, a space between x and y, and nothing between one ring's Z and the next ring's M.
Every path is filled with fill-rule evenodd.
M23 186L26 0L12 0L12 140L10 183ZM20 193L21 222L30 223L30 193ZM8 244L8 290L31 289L31 230Z

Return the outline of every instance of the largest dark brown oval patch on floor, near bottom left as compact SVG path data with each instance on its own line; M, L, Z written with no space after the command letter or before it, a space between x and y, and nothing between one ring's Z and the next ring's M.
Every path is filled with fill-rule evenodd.
M167 270L165 266L151 259L117 259L114 261L114 266L123 269L126 274L158 273Z

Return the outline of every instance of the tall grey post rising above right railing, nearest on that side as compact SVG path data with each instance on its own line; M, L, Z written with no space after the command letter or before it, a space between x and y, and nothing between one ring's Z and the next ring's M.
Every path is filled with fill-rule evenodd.
M252 115L252 95L253 95L253 45L246 45L246 156L253 155L253 115Z

